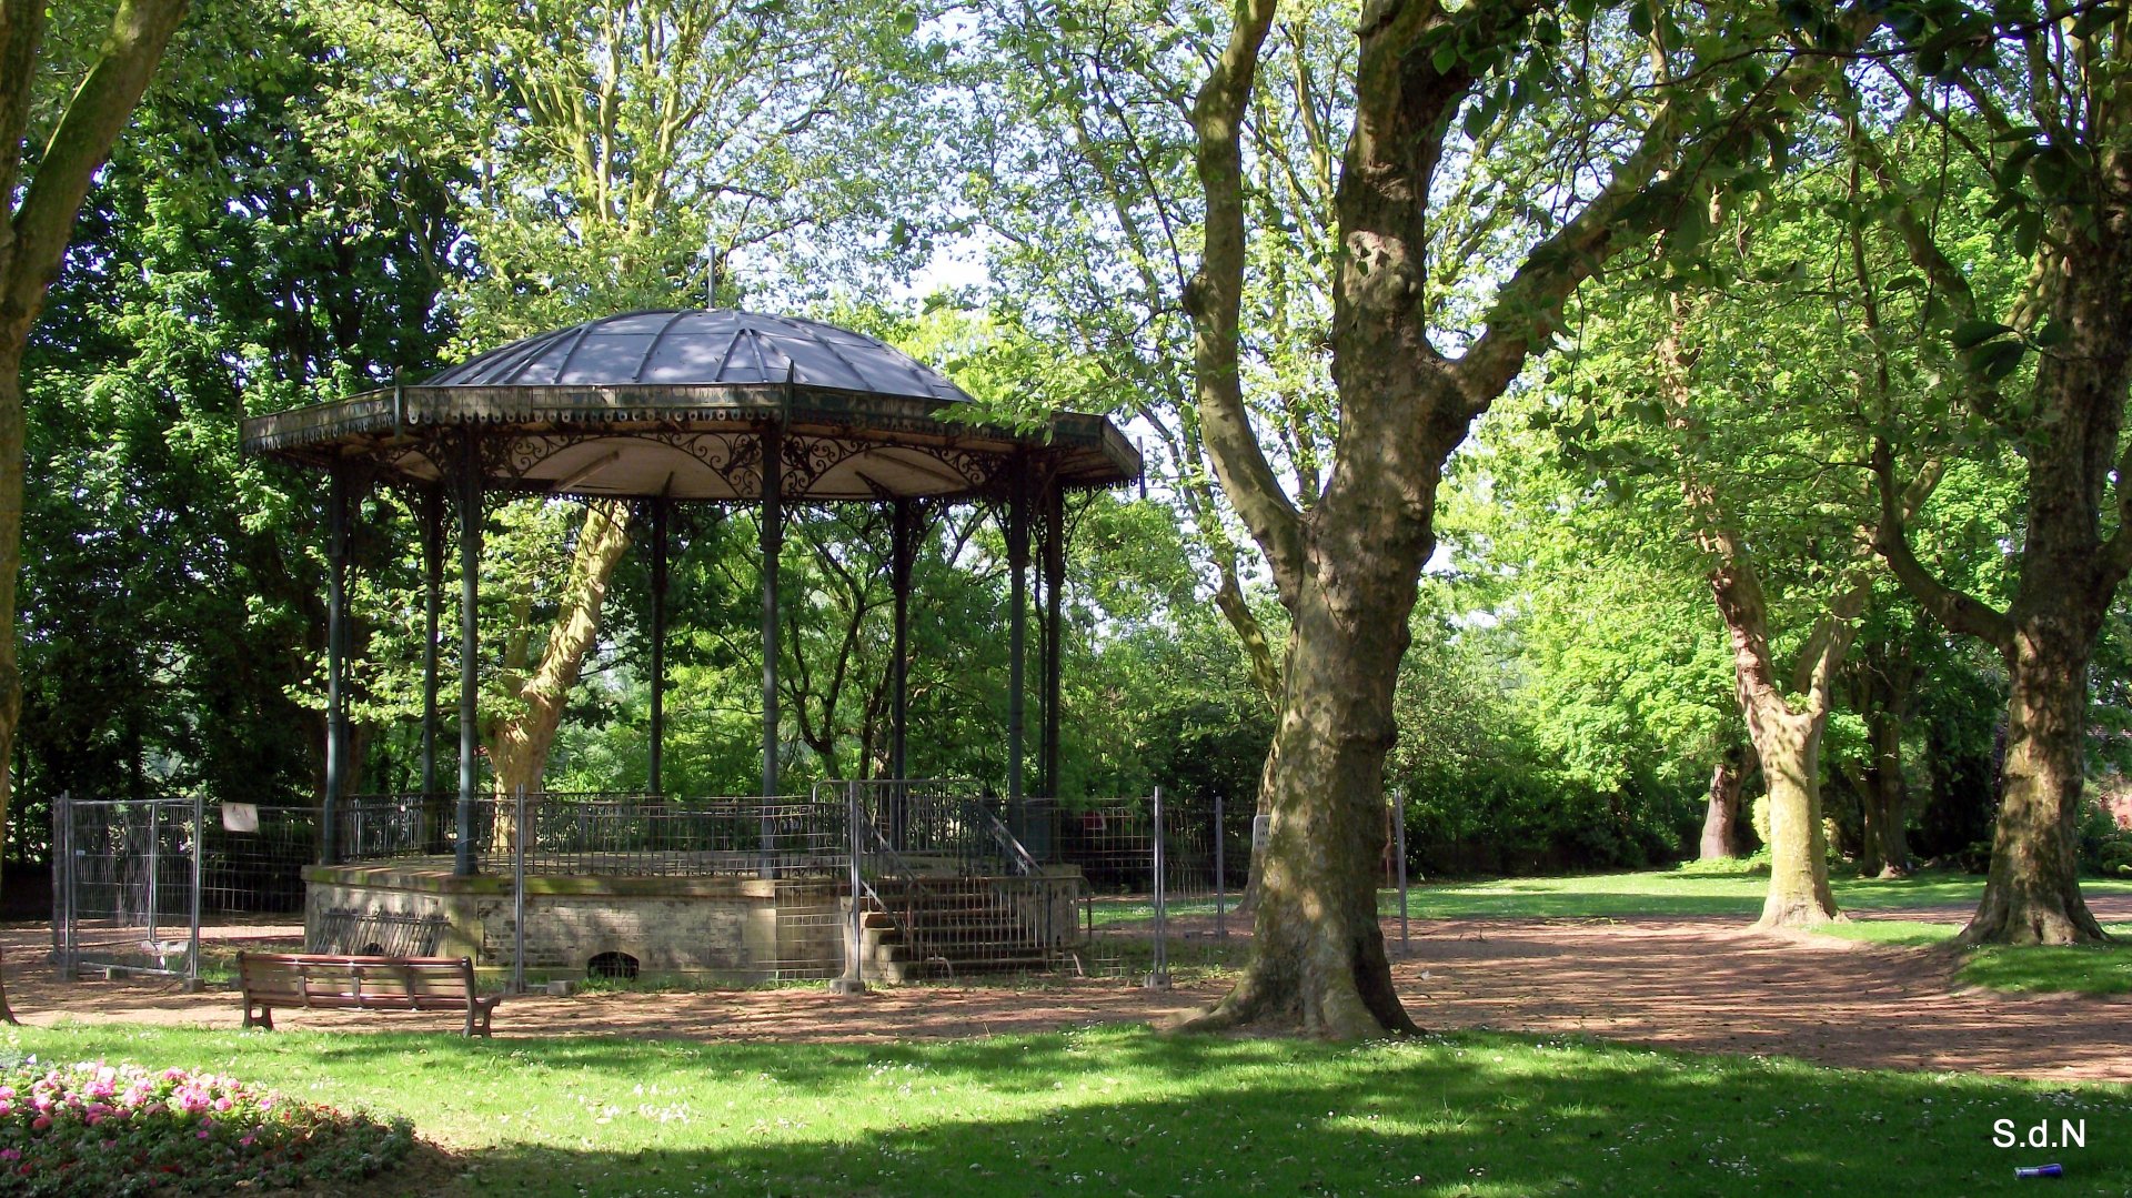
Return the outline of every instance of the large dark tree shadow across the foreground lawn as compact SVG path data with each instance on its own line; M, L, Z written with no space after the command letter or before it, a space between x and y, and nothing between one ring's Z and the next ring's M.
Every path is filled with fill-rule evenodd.
M2034 1153L1996 1119L2087 1119L2051 1153L2074 1192L2121 1192L2121 1094L1787 1062L1450 1036L1339 1049L1147 1034L966 1042L917 1053L953 1108L898 1108L855 1070L819 1126L755 1115L742 1143L642 1151L510 1145L467 1192L533 1194L1989 1194ZM881 1074L889 1083L872 1081ZM1000 1079L1034 1074L1034 1106ZM1164 1076L1160 1094L1113 1085ZM987 1096L994 1096L987 1100ZM729 1130L740 1130L729 1128Z

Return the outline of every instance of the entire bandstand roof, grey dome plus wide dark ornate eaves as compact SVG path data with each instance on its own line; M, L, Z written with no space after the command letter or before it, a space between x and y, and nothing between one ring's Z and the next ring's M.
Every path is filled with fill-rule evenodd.
M252 416L243 448L439 486L755 503L998 499L1141 477L1100 416L972 422L979 405L872 337L753 311L631 311L514 341L422 384Z

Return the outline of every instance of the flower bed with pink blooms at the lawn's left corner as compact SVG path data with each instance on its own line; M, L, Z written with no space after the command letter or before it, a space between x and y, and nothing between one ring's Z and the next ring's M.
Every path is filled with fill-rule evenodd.
M235 1076L34 1057L0 1066L0 1189L220 1194L356 1181L399 1164L405 1119L335 1111Z

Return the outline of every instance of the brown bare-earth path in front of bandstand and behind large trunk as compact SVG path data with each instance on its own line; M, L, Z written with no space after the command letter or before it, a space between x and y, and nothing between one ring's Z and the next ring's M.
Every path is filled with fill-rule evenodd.
M2091 900L2104 921L2132 897ZM1866 919L1959 923L1966 910ZM209 929L222 946L292 929ZM1194 932L1179 923L1179 934ZM1386 923L1396 951L1396 921ZM49 927L0 932L6 989L28 1023L124 1021L237 1027L237 995L171 981L60 983ZM1961 1070L2051 1081L2132 1081L2132 998L1957 991L1947 951L1810 934L1753 934L1729 919L1416 921L1394 959L1424 1027L1573 1032L1703 1053L1804 1057L1831 1066ZM499 1036L684 1036L699 1040L925 1040L1149 1021L1211 1002L1217 981L1170 991L1117 978L917 985L838 998L825 987L706 993L512 998ZM448 1015L275 1013L284 1027L452 1030Z

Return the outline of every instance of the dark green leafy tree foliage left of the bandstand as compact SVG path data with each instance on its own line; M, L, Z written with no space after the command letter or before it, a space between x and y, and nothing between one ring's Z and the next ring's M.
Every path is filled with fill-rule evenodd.
M38 853L34 808L58 791L309 795L322 488L239 458L237 420L422 369L452 333L433 313L454 269L435 177L356 162L322 128L345 60L279 9L194 17L26 360L32 810L11 853ZM382 550L358 544L369 565Z

